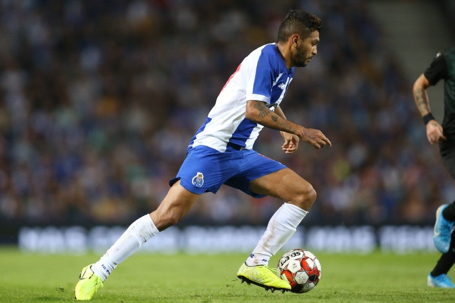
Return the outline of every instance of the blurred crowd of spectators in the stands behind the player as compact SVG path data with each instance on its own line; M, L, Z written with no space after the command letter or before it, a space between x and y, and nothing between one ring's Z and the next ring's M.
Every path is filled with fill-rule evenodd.
M454 182L366 0L0 1L0 220L129 224L154 210L225 81L290 8L324 28L281 107L333 146L285 155L264 129L255 149L315 188L303 224L432 223ZM180 224L265 224L281 203L223 186Z

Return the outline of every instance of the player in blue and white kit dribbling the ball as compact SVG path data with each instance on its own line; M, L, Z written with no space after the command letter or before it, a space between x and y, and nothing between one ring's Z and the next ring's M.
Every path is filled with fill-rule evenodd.
M294 67L306 66L317 54L321 28L318 17L291 10L279 27L278 41L260 46L242 61L191 139L187 157L169 181L171 188L161 204L134 221L98 262L82 269L76 299L91 299L118 264L181 219L202 193L216 193L222 184L255 198L270 195L284 201L237 276L266 290L291 289L267 268L268 261L294 234L316 192L294 171L252 147L263 127L281 132L286 154L294 153L300 140L315 148L332 145L320 130L287 120L280 106Z

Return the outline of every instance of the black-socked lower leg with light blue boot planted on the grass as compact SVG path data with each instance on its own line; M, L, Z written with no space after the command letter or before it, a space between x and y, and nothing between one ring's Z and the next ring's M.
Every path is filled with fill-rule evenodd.
M455 231L451 233L450 247L441 255L436 266L427 277L430 287L454 288L455 285L447 276L448 271L455 263Z

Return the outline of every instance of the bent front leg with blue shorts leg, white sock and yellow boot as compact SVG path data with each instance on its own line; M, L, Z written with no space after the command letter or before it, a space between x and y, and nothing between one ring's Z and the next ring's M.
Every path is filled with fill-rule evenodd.
M267 268L269 258L286 243L314 202L312 186L281 163L259 154L250 154L245 161L242 177L225 184L261 197L270 195L288 201L272 216L267 229L250 257L237 272L241 281L251 282L265 289L290 290L287 281Z

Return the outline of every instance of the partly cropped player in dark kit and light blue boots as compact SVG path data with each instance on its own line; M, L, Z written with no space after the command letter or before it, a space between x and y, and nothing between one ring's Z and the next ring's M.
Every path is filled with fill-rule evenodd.
M444 119L442 125L433 117L428 103L427 88L444 79ZM417 78L413 87L414 100L427 128L431 145L439 144L442 163L455 178L455 47L438 53L425 72ZM428 286L450 287L455 285L447 272L455 262L455 201L441 205L436 211L433 240L442 252L436 266L428 275Z

